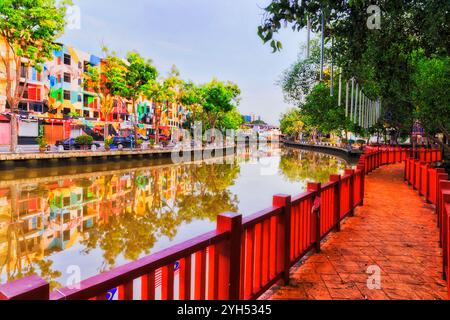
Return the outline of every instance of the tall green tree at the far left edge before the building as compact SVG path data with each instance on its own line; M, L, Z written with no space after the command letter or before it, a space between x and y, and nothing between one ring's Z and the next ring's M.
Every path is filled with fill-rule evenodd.
M57 4L58 3L58 4ZM2 0L0 2L0 36L6 43L0 59L6 71L6 100L11 110L11 152L18 143L19 102L28 85L28 72L23 68L42 69L59 46L56 39L65 26L66 5L63 0ZM22 80L23 79L23 80Z

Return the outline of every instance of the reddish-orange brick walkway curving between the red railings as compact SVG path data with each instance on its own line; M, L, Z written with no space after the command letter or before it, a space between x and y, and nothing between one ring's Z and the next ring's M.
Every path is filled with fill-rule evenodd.
M269 299L443 300L442 252L436 216L403 183L403 165L383 167L366 180L365 205L331 234L320 254L291 270L291 285ZM381 289L369 290L369 266L381 268Z

